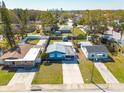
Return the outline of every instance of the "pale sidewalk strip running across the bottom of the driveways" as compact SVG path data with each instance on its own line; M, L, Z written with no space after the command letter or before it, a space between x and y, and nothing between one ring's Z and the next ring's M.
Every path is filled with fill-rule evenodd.
M0 92L26 92L31 91L32 87L38 87L41 91L48 92L64 92L64 91L81 91L81 92L124 92L124 84L42 84L42 85L30 85L26 87L24 85L16 86L0 86Z

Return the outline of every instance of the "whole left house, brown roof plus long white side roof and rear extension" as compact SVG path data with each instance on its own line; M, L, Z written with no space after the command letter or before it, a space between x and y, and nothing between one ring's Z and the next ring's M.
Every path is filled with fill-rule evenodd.
M41 62L38 56L46 47L47 37L29 36L25 40L31 37L41 38L42 40L40 39L36 45L26 43L19 44L16 49L4 53L0 57L0 62L2 62L4 66L9 67L33 67L36 63Z

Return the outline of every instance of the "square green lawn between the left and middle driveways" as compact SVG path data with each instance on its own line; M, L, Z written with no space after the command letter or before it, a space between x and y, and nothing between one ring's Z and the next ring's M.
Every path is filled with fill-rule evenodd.
M36 73L33 84L62 84L62 65L58 63L43 63Z

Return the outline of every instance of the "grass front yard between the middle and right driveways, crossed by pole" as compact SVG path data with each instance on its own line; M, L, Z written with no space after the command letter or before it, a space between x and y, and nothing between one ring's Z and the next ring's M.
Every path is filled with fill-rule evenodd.
M79 68L82 74L82 77L84 79L84 83L92 83L91 77L92 77L92 69L93 69L93 63L89 60L87 60L82 53L82 51L79 49ZM98 72L98 70L94 67L93 71L93 82L96 84L104 84L105 81Z

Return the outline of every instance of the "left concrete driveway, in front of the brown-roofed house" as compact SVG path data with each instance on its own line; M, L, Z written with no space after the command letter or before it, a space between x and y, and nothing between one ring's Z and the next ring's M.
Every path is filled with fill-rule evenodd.
M18 69L13 78L8 83L8 86L14 85L31 85L32 80L34 78L36 69L25 70L25 69Z

